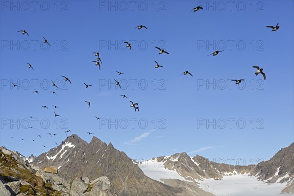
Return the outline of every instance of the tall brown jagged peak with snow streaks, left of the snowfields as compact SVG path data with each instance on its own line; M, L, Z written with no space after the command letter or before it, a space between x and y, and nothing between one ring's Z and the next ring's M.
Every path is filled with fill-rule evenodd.
M150 179L124 152L96 137L88 144L73 134L60 146L31 159L31 164L39 167L56 166L59 175L69 181L77 176L93 180L105 175L121 196L172 196L183 192Z

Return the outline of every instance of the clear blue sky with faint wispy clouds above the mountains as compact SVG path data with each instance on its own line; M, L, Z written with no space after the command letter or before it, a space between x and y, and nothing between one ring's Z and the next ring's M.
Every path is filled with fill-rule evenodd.
M129 1L54 2L1 1L1 146L39 155L69 129L87 142L93 135L85 131L95 133L137 160L185 151L252 164L294 142L293 1L236 1L231 7L192 0L136 1L133 7ZM203 10L190 13L197 5ZM275 32L266 28L277 23ZM17 32L23 29L29 36ZM43 36L51 47L42 44ZM207 56L215 50L224 51ZM91 63L96 51L100 71ZM154 61L164 67L154 69ZM253 65L264 69L265 81ZM194 77L181 75L186 70ZM236 86L232 79L245 83ZM47 87L50 80L59 89Z

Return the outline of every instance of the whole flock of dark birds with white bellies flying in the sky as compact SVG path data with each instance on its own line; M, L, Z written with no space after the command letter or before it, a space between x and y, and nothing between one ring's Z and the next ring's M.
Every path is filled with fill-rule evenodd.
M196 11L198 11L198 10L203 10L203 7L201 7L201 6L197 6L197 7L193 8L190 12L192 12L192 11L193 11L193 12L196 12ZM271 28L271 29L272 29L271 31L276 31L276 30L279 29L279 26L278 26L278 25L279 25L279 24L277 24L276 26L266 26L266 27ZM135 26L135 28L137 28L137 29L139 29L139 30L142 29L142 28L148 29L147 26L145 26L145 25L138 25L138 26ZM134 29L135 29L135 28L134 28ZM27 36L29 36L26 30L19 30L18 32L22 32L23 35L26 34ZM44 39L44 43L46 43L46 44L48 44L48 45L50 46L48 40L47 40L44 36L43 36L43 39ZM126 48L132 49L132 46L131 46L130 43L128 43L128 42L124 42L124 43L126 44ZM159 48L159 47L155 47L155 48L159 50L159 54L163 54L163 53L170 54L170 53L167 52L165 49L161 49L161 48ZM211 54L209 54L209 55L207 55L207 56L210 56L210 55L216 56L216 55L218 55L218 54L219 54L220 52L222 52L222 51L223 51L223 50L217 50L217 51L214 51L214 52L212 52ZM98 66L98 67L99 67L99 70L101 70L101 65L100 65L100 63L102 64L102 61L101 61L101 58L100 58L100 56L99 56L99 52L93 52L93 53L95 54L95 57L97 57L97 58L95 59L95 61L91 61L91 63L95 63L95 66ZM163 68L163 66L160 65L157 61L154 61L154 62L156 63L156 65L155 65L155 69L157 69L157 68ZM32 65L31 65L30 63L28 63L28 62L27 62L27 64L28 64L28 69L32 69L32 71L34 71L34 68L32 67ZM253 68L256 68L256 70L257 70L257 71L255 72L255 75L262 74L263 77L264 77L264 79L266 79L266 74L263 72L263 68L260 68L259 66L252 66L252 67L253 67ZM116 71L116 72L117 72L119 75L124 74L124 73L121 73L121 72L118 72L118 71ZM181 75L187 75L187 74L189 74L189 75L191 75L191 76L193 77L192 73L190 73L189 71L185 71L185 72L183 72ZM69 77L66 77L66 76L64 76L64 75L61 75L61 77L63 77L65 81L68 81L70 84L72 84L72 81L69 79ZM231 80L231 81L235 81L236 84L240 84L240 83L241 83L242 81L244 81L244 80L245 80L245 79L238 79L238 80L237 80L237 79L234 79L234 80ZM58 89L58 86L57 86L52 80L51 80L51 82L52 82L52 86L55 87L56 89ZM118 80L115 79L115 83L116 83L116 85L118 85L120 88L122 88L122 87L121 87L121 84L120 84L120 82L119 82ZM92 85L88 85L88 84L86 84L86 83L83 83L83 84L85 85L86 88L92 86ZM16 84L13 84L13 86L14 86L14 87L18 87L18 85L16 85ZM38 91L34 91L33 93L39 94ZM50 91L50 93L57 95L57 94L55 93L55 91ZM128 98L126 95L120 95L120 96L122 96L123 98ZM90 109L91 102L90 102L90 101L86 101L86 100L84 100L84 101L87 103L87 105L88 105L88 109ZM129 102L131 102L130 107L133 107L134 110L135 110L135 112L136 112L137 110L139 111L139 104L138 104L137 102L134 103L134 102L131 101L131 100L129 100ZM55 105L53 105L53 107L54 107L54 109L57 109L57 108L58 108L58 107L55 106ZM48 109L48 106L43 105L42 108L44 108L44 109ZM54 111L54 116L55 116L55 117L60 117L60 115L56 114L55 111ZM34 117L30 116L29 118L34 118ZM96 116L95 116L95 118L96 118L97 120L100 119L100 117L96 117ZM33 127L30 126L29 128L33 128ZM66 134L66 137L67 137L67 138L69 138L69 136L67 135L67 133L69 133L69 132L72 132L72 131L71 131L71 130L66 130L66 131L64 132L64 133ZM88 135L90 135L90 134L94 134L94 133L91 133L91 132L88 132L88 131L86 131L86 133L87 133ZM54 133L54 134L52 134L52 133L47 133L47 134L50 135L51 137L57 135L57 133ZM38 137L41 138L40 135L37 135L36 137L37 137L37 138L38 138ZM72 135L72 136L70 136L70 137L74 137L74 136ZM11 138L14 139L14 137L11 137ZM24 139L22 139L22 140L24 140ZM35 141L35 139L32 139L32 141ZM55 145L58 145L58 143L56 143L56 142L54 142L54 143L55 143ZM60 144L62 144L62 143L64 143L64 141L60 142ZM46 146L44 146L44 145L42 145L42 146L43 146L43 147L46 147Z

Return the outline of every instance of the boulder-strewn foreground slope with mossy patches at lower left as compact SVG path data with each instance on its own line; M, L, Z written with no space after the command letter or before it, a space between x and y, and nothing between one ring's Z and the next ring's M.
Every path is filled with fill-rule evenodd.
M55 173L28 165L24 156L0 147L0 196L119 196L109 179L102 176L75 178L70 184Z

